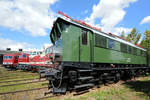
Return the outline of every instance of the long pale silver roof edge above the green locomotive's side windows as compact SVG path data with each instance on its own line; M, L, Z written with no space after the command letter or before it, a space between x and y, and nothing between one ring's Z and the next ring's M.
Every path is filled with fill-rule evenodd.
M83 28L85 28L85 29L91 30L93 33L100 34L100 35L102 35L102 36L104 36L104 37L107 37L107 38L113 39L113 40L115 40L115 41L118 41L118 42L121 42L121 43L130 45L130 46L132 46L132 47L135 47L135 48L138 48L138 49L141 49L141 50L146 51L146 49L144 49L144 48L138 47L138 46L136 46L135 44L133 44L133 43L131 43L131 42L128 42L128 41L125 41L125 40L123 40L123 39L120 39L120 38L118 38L118 37L111 36L111 35L109 35L109 34L103 32L103 31L97 31L97 30L92 29L92 28L90 28L90 27L87 27L87 26L85 26L85 25L82 25L82 24L79 24L79 23L77 23L77 22L71 21L70 19L66 19L66 18L62 18L62 17L58 17L58 18L57 18L57 20L60 20L60 19L66 21L66 22L69 22L69 23L71 23L71 24L75 24L75 25L77 25L77 26L83 27Z

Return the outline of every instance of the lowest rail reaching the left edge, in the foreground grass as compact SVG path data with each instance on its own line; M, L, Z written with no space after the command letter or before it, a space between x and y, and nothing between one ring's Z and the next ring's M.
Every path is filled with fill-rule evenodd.
M35 90L41 90L41 89L46 89L46 88L48 88L48 87L26 89L26 90L18 90L18 91L13 91L13 92L3 92L3 93L0 93L0 95L15 94L15 93L20 93L20 92L28 92L28 91L35 91Z

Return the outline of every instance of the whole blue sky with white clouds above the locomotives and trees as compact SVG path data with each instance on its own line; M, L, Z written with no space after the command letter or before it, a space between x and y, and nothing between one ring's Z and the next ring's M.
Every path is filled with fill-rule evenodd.
M136 27L143 37L150 30L149 4L150 0L0 0L0 50L50 45L58 11L116 35Z

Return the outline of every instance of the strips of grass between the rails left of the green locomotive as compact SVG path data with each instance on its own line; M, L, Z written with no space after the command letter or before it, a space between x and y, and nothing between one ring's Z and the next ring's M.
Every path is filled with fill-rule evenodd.
M8 71L5 68L0 66L0 77L1 77L0 82L6 82L6 81L14 81L14 80L39 78L39 75L38 73L24 72L24 71L19 71L19 70ZM8 83L6 82L6 83L0 83L0 86L9 85L9 84L17 84L17 83L25 83L25 82L30 82L30 81L31 80L8 82ZM42 87L47 87L47 86L48 86L47 81L15 85L15 86L6 86L6 87L0 87L0 93L42 88ZM44 88L41 90L35 90L35 91L20 92L20 93L15 93L15 94L0 95L0 100L35 100L36 98L43 97L45 91L47 91L47 88Z

